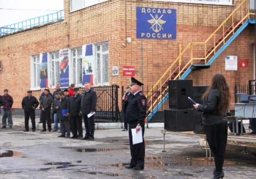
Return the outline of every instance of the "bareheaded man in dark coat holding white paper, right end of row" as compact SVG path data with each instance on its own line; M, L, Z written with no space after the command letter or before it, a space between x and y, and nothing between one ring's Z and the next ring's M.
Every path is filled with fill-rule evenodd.
M96 104L97 104L97 94L91 89L91 85L89 82L85 83L85 92L83 93L81 99L81 113L84 118L85 123L85 137L82 140L94 140L94 115L88 118L88 114L94 114L96 112Z

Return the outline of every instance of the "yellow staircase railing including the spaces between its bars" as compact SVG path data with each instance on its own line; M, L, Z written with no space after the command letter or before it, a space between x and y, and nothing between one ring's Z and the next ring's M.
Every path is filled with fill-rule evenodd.
M184 50L179 50L179 56L173 63L169 66L169 68L164 72L164 74L160 77L158 82L153 86L153 88L148 92L147 97L149 98L149 110L153 111L159 104L159 101L166 98L165 95L162 95L163 91L166 90L163 88L164 86L168 88L166 85L168 80L179 80L181 79L183 73L194 64L194 60L203 60L204 64L207 64L207 60L210 59L211 55L215 55L218 51L218 47L221 47L221 44L225 44L226 39L232 34L236 28L240 25L244 24L245 20L250 18L249 9L249 0L243 0L234 10L230 13L230 15L223 21L223 23L204 41L204 42L190 42ZM238 19L238 20L237 20ZM234 23L237 20L237 23ZM230 31L225 31L228 27L227 24L232 26ZM217 38L221 37L221 38ZM219 40L219 41L218 41ZM218 41L218 43L216 43ZM210 49L210 51L207 51ZM201 53L198 53L201 52ZM195 54L199 57L195 57ZM182 64L182 59L189 59L188 61L184 61ZM177 74L176 74L177 73ZM172 77L175 74L175 77ZM160 92L160 95L157 95L157 100L154 100L154 92Z

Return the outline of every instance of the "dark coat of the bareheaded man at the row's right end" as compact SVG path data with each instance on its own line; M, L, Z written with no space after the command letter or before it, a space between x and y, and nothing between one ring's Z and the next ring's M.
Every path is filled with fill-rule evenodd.
M97 94L93 89L84 92L81 99L80 111L83 115L96 112Z

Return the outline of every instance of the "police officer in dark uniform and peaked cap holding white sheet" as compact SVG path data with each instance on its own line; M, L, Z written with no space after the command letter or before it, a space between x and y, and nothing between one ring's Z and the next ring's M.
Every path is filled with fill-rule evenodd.
M127 169L143 170L144 169L144 158L145 158L145 143L144 143L144 130L145 130L145 118L146 118L146 106L147 99L141 91L141 85L135 78L131 77L130 92L133 93L130 97L130 101L127 106L127 120L129 125L129 142L130 142L130 164L126 165ZM139 144L132 144L131 129L136 131L142 130L143 142Z

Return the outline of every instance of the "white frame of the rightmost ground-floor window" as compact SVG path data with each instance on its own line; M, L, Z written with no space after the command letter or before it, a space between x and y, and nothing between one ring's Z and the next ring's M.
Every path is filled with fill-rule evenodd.
M108 44L108 50L107 51L104 51L102 52L102 45L103 44ZM100 46L100 49L99 51L97 50L97 46ZM94 45L94 84L95 86L102 86L102 85L109 85L109 42L102 42L102 43L97 43ZM100 63L100 69L98 69L98 66L97 66L97 53L100 53L100 58L101 58L101 63ZM107 82L102 82L102 79L103 79L103 76L105 76L103 74L103 70L102 70L102 67L103 67L103 60L102 60L102 56L103 55L106 55L108 54L108 66L105 67L105 69L107 69L107 75L108 75L108 79L107 79ZM100 73L100 76L101 76L101 82L97 82L97 73Z

